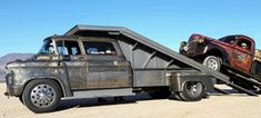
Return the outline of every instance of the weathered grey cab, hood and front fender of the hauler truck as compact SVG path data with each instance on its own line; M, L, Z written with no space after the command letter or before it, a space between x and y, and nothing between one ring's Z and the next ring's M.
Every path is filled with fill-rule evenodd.
M109 43L114 49L92 48L91 49L84 43L92 42ZM64 47L67 49L62 51ZM38 55L26 61L9 62L7 70L10 71L7 75L8 90L12 96L21 96L26 83L41 78L50 78L61 85L64 97L72 96L71 90L132 87L130 62L118 42L110 38L49 37Z

